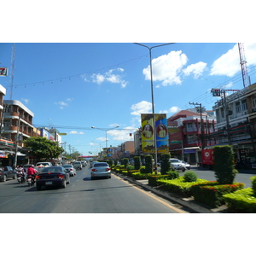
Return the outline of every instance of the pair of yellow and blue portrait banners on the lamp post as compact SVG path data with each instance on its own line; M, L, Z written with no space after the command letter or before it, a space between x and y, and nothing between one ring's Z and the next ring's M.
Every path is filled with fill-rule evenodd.
M142 113L143 152L168 153L168 130L166 113ZM154 144L156 142L156 145Z

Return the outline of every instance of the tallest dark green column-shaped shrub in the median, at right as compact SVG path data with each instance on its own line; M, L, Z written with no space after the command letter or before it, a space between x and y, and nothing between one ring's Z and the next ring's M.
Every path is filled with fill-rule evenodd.
M233 184L236 177L232 146L213 147L214 172L219 184Z

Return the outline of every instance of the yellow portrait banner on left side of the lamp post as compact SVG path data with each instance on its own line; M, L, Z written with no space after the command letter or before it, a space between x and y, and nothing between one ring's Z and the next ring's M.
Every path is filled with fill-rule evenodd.
M154 153L154 116L153 113L142 113L143 152Z

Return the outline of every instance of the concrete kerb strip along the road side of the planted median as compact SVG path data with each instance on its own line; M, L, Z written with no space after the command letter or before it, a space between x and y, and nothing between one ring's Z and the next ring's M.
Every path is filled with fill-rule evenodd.
M176 203L178 205L181 205L183 207L187 207L187 208L195 211L196 213L228 213L226 211L227 207L225 207L225 206L212 209L211 207L208 207L206 205L201 204L200 202L195 201L193 198L183 198L181 196L172 194L170 192L166 192L166 191L158 189L156 187L149 186L148 185L148 179L136 180L134 178L127 177L127 176L122 175L120 173L116 173L116 172L112 172L112 173L115 176L121 177L121 178L125 179L126 181L128 181L130 183L135 183L135 184L137 184L138 186L140 186L144 189L148 189L149 191L151 191L155 195L161 196L161 197L165 198L168 201L174 202L174 203Z

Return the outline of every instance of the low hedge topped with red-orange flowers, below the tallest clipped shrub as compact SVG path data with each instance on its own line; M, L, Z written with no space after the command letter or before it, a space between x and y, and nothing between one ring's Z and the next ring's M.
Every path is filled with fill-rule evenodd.
M220 207L225 204L225 194L230 194L238 189L243 189L244 183L219 184L217 181L195 184L191 191L195 201L204 203L210 207Z

